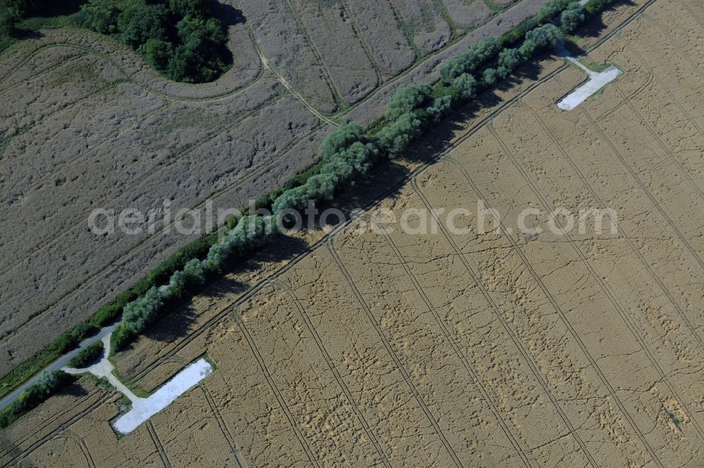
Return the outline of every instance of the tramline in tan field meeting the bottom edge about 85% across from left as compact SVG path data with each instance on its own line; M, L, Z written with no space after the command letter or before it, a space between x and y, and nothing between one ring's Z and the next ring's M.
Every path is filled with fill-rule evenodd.
M574 437L575 441L577 441L577 443L579 444L579 447L582 449L582 452L584 452L584 455L586 456L587 460L589 461L589 464L591 464L591 466L594 468L598 467L598 463L596 463L596 460L594 460L593 456L591 455L591 453L589 451L589 448L586 447L586 444L582 440L582 437L579 436L579 434L577 433L577 429L574 428L574 425L570 421L570 418L567 417L565 410L562 409L562 406L560 406L558 399L555 398L555 396L553 395L553 392L550 389L550 384L548 382L548 379L547 378L543 379L543 375L540 372L540 365L532 357L532 353L529 353L525 349L525 347L522 343L522 340L520 339L520 337L518 337L518 334L511 329L510 325L508 324L508 320L506 320L505 316L503 316L503 313L501 312L501 308L498 306L498 304L496 304L496 301L494 301L494 298L491 297L489 290L487 290L486 287L484 287L484 284L482 282L480 282L479 275L477 274L476 271L474 271L474 268L472 268L472 266L470 265L470 262L467 260L466 254L464 252L462 252L462 249L460 249L460 247L457 245L457 243L452 238L450 233L448 233L447 227L444 225L444 223L441 223L439 216L437 215L436 212L433 211L432 204L427 200L425 195L422 193L422 190L420 189L420 187L418 187L417 177L414 177L413 179L411 179L410 183L411 183L411 186L413 187L413 190L415 190L415 193L417 193L418 197L420 197L420 200L423 202L425 207L430 212L431 216L433 216L436 223L438 223L439 228L443 232L444 238L448 241L448 244L455 251L455 254L458 256L458 258L462 262L463 266L465 266L465 270L467 270L467 273L470 274L470 277L472 278L472 280L474 280L474 283L477 285L477 288L482 292L484 299L486 299L486 302L489 303L491 308L494 310L494 315L496 316L496 318L498 318L498 320L501 323L505 332L508 333L508 336L510 337L511 341L516 346L516 349L523 356L523 358L526 360L528 368L531 370L536 381L542 387L542 389L545 392L548 399L551 401L551 403L553 403L553 406L555 406L555 410L557 410L558 414L560 415L562 422L565 423L565 426L570 431L570 434L572 434L572 437Z

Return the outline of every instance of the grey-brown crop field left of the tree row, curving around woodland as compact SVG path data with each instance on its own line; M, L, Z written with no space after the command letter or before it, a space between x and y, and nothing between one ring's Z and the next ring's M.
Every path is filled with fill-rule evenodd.
M373 122L398 87L432 82L443 60L544 1L501 13L479 0L223 1L234 64L199 85L87 30L4 51L0 375L201 237L161 217L151 233L96 236L93 209L246 207L312 164L336 124Z

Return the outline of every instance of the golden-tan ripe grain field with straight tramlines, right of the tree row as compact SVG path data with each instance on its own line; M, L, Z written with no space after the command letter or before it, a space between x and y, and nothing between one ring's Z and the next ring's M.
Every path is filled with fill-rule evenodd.
M605 15L602 34L644 4ZM203 353L216 367L130 436L108 424L118 396L84 378L0 434L0 464L698 466L696 8L657 0L589 53L624 75L571 112L556 103L584 73L543 60L431 136L451 143L425 154L433 164L387 169L408 181L356 221L289 239L118 353L146 391ZM460 235L441 217L434 233L359 229L379 209L476 212L477 200L501 214L497 230ZM608 207L617 229L515 230L521 210L558 207Z

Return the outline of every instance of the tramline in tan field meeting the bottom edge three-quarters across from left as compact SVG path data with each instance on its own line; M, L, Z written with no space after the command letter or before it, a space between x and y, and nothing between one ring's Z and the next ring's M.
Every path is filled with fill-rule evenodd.
M415 179L411 179L412 181ZM401 250L398 249L398 246L396 245L396 242L391 239L391 236L389 233L386 233L386 230L383 228L380 229L380 232L386 239L386 242L388 242L389 246L391 249L394 251L394 254L396 255L396 259L398 259L399 264L403 267L403 270L406 271L406 275L408 278L410 278L411 282L413 282L413 286L415 287L415 290L417 291L418 294L420 294L420 298L422 301L425 303L425 306L428 309L428 312L430 315L434 318L435 322L437 323L440 331L442 334L444 334L446 341L452 348L452 350L455 352L457 357L460 360L460 363L462 363L463 368L465 368L465 371L467 372L467 375L470 376L470 379L474 381L474 385L477 386L477 389L479 390L479 394L482 396L482 399L484 399L484 403L489 406L489 410L491 413L493 413L494 417L496 418L498 425L501 427L501 430L503 431L503 434L508 438L509 443L513 446L514 450L522 460L523 464L526 467L531 467L532 464L528 458L528 455L524 452L523 448L521 447L520 443L520 436L516 437L515 434L513 434L513 431L510 430L510 427L508 424L503 420L503 417L501 417L501 413L499 412L498 408L496 408L496 403L494 400L491 398L491 395L489 394L489 391L486 390L484 385L482 384L481 379L479 379L479 375L477 375L477 370L474 369L474 366L467 360L467 356L465 356L465 353L460 349L460 346L457 344L455 339L453 338L452 333L446 325L443 322L443 319L439 316L439 314L436 311L436 308L432 305L432 302L430 299L427 297L425 294L425 291L422 289L420 283L418 282L417 278L415 277L415 274L413 271L410 269L408 266L408 261L403 257L403 254L401 253ZM514 426L515 427L515 426Z

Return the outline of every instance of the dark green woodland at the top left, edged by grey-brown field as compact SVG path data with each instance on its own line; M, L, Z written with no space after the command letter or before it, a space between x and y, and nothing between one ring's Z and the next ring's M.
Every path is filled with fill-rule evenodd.
M18 35L20 18L45 14L48 0L0 0L0 34ZM213 17L210 0L91 0L70 22L111 34L138 51L156 70L177 82L209 82L232 63L225 25Z

